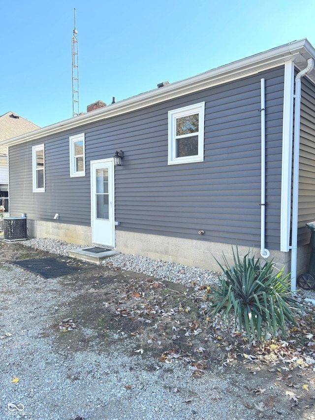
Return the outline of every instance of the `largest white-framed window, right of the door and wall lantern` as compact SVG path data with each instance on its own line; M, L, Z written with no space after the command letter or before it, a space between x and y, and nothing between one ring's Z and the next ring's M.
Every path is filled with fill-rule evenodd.
M205 103L168 111L168 164L203 162Z

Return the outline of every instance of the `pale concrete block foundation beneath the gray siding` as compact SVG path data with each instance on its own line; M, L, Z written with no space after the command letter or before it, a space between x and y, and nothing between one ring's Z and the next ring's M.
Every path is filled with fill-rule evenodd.
M70 225L58 222L43 222L27 220L28 235L38 238L55 238L63 241L92 246L92 229L90 226ZM105 246L106 244L104 244ZM188 266L205 268L213 271L221 271L218 261L221 263L224 253L229 264L233 262L232 246L218 242L198 241L196 239L181 239L171 236L152 235L137 232L116 230L116 247L121 253L142 255L153 259L162 259L177 262ZM260 257L258 248L239 246L239 253L244 256L251 252L256 258ZM280 270L284 267L286 273L290 272L291 252L269 250L276 267ZM298 275L308 271L311 247L305 245L298 249L297 268ZM263 258L261 258L263 259Z

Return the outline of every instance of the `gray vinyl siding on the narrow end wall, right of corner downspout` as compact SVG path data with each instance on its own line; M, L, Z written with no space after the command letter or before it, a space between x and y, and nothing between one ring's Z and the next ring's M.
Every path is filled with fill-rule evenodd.
M302 79L300 171L299 171L299 245L308 244L310 231L305 226L315 221L315 85Z

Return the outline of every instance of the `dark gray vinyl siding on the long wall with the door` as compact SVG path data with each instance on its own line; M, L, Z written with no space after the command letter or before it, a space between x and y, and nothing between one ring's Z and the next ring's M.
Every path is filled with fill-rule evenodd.
M266 247L280 247L284 67L10 147L11 215L90 226L90 162L115 168L117 229L260 243L260 79L266 79ZM205 101L204 162L167 165L167 111ZM69 177L69 136L85 133L86 176ZM32 193L32 145L45 144L45 193ZM205 231L204 236L198 230Z

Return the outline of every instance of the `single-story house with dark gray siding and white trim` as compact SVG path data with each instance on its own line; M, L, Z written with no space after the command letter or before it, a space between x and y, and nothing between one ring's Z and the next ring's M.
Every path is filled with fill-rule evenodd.
M254 247L294 288L315 219L314 58L294 41L7 141L10 215L31 236L209 269Z

